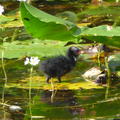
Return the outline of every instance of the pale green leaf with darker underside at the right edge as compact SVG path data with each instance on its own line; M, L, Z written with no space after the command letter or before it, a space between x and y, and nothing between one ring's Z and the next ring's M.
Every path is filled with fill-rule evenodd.
M120 48L120 27L113 27L110 29L109 26L102 25L83 30L80 35L92 41Z

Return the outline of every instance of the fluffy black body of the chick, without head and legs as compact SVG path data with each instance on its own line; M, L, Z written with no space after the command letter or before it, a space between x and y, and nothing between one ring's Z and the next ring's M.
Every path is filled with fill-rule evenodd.
M65 56L57 56L44 61L40 69L50 77L60 77L70 72L75 66L75 61Z

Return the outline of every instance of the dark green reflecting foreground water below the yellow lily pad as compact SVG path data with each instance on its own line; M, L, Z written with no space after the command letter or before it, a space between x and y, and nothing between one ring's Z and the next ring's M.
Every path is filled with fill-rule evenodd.
M8 91L8 92L7 92ZM11 111L6 106L6 120L29 120L28 90L10 88L5 96L9 106L20 106L22 110ZM32 90L33 119L50 120L109 120L120 118L119 88L110 90L109 99L105 100L105 89L58 90L51 103L52 91ZM3 118L2 105L0 107ZM113 120L113 119L111 119Z

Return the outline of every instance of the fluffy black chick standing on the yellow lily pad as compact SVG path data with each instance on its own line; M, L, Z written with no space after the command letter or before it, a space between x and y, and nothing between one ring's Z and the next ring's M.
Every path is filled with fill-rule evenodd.
M39 69L46 75L46 82L49 83L49 80L54 77L61 82L61 77L73 69L81 53L79 48L70 47L66 56L60 55L43 61Z

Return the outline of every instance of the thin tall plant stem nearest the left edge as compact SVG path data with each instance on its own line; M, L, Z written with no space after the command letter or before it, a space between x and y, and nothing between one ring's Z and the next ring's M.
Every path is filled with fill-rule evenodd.
M3 69L3 73L4 73L4 85L3 85L3 91L2 91L2 103L5 103L5 88L6 88L6 84L7 84L7 74L6 74L5 65L4 65L4 50L2 51L1 64L2 64L2 69ZM4 120L6 120L5 106L4 105L3 105L3 110L4 110Z

